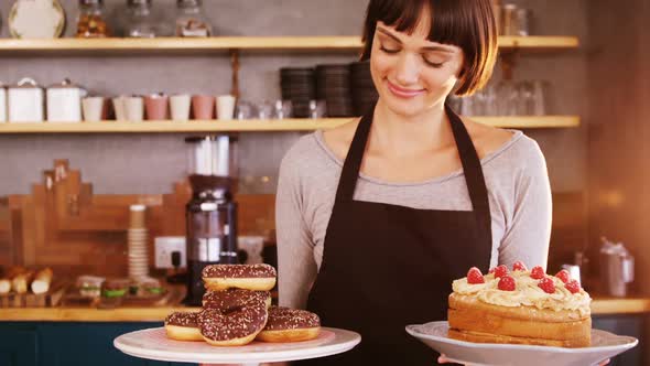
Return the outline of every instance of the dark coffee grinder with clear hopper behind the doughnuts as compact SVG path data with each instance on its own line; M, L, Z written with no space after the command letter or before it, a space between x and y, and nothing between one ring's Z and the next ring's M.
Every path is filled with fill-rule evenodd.
M237 139L228 134L186 138L192 200L186 205L187 295L202 304L201 272L216 263L237 263Z

